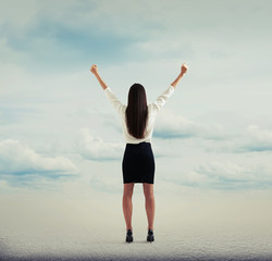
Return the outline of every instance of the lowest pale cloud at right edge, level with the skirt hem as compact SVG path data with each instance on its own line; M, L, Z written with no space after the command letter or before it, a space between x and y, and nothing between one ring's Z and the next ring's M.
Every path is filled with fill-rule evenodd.
M272 169L264 164L209 161L180 174L178 177L172 176L171 182L206 189L268 189L272 187Z

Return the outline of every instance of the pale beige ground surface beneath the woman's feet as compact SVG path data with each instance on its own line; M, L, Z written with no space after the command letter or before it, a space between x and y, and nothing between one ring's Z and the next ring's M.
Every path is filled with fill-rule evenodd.
M272 260L271 211L259 202L207 209L157 199L150 244L144 201L135 196L127 244L119 198L111 208L96 200L7 200L0 199L0 260Z

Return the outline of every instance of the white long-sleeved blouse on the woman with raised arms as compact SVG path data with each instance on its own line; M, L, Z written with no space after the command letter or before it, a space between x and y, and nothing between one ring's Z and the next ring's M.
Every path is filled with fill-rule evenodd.
M157 113L160 111L160 109L165 104L168 98L174 92L175 88L170 85L158 98L157 100L148 104L148 119L147 119L147 126L146 126L146 135L145 138L138 139L133 137L126 127L126 117L125 117L125 110L126 105L123 104L113 94L112 89L110 87L107 87L104 89L106 96L109 98L110 102L113 104L114 109L118 111L118 113L122 117L122 128L123 128L123 135L125 138L125 141L127 144L139 144L143 141L151 142L152 134L153 134L153 126L154 126L154 119Z

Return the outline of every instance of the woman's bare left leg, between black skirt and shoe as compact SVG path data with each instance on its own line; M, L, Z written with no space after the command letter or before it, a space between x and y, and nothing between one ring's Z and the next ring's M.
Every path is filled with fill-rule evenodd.
M126 223L126 229L132 229L132 215L133 215L133 188L134 183L124 184L124 191L123 191L123 212Z

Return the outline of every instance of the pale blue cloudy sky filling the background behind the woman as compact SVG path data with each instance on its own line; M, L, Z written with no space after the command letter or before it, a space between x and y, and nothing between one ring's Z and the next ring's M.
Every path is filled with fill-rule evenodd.
M123 103L134 83L145 86L150 103L186 63L156 120L156 195L271 204L271 1L1 0L0 7L4 202L42 195L120 200L121 119L89 69L98 65Z

